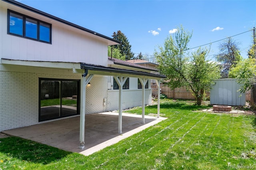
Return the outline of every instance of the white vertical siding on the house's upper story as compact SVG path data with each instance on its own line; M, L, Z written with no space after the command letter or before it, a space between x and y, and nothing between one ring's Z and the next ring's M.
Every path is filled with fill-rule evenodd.
M33 16L31 16L33 17ZM107 66L108 45L68 30L63 24L52 24L52 44L7 34L7 9L0 10L1 57L14 60L60 61Z

